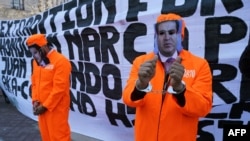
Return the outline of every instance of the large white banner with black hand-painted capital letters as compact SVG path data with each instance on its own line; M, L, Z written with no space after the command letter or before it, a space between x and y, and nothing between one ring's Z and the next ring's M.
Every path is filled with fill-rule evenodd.
M26 116L32 114L31 59L25 40L44 33L72 65L70 125L104 141L132 141L135 109L121 97L135 57L153 50L161 13L180 14L186 49L208 60L213 110L197 140L222 141L223 125L249 124L250 79L239 58L248 45L248 0L72 0L33 17L0 21L0 86Z

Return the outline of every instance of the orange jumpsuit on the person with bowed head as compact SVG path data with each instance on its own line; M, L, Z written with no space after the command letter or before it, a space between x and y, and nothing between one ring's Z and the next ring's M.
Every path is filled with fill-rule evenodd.
M56 50L49 52L50 64L45 68L33 61L32 101L48 110L38 116L43 141L70 141L68 123L70 108L71 64Z

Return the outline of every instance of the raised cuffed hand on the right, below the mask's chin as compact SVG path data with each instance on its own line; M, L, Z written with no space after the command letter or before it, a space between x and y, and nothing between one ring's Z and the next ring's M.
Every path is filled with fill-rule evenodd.
M171 78L170 85L175 91L180 91L183 89L184 85L181 83L183 75L184 66L181 64L181 58L178 56L169 70L169 76Z

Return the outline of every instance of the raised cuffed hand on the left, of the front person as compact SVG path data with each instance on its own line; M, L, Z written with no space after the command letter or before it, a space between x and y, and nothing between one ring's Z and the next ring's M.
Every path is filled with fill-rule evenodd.
M136 81L136 87L139 89L145 89L148 86L149 81L155 75L155 66L158 60L158 56L155 55L153 59L148 60L141 64L138 72L138 81Z

